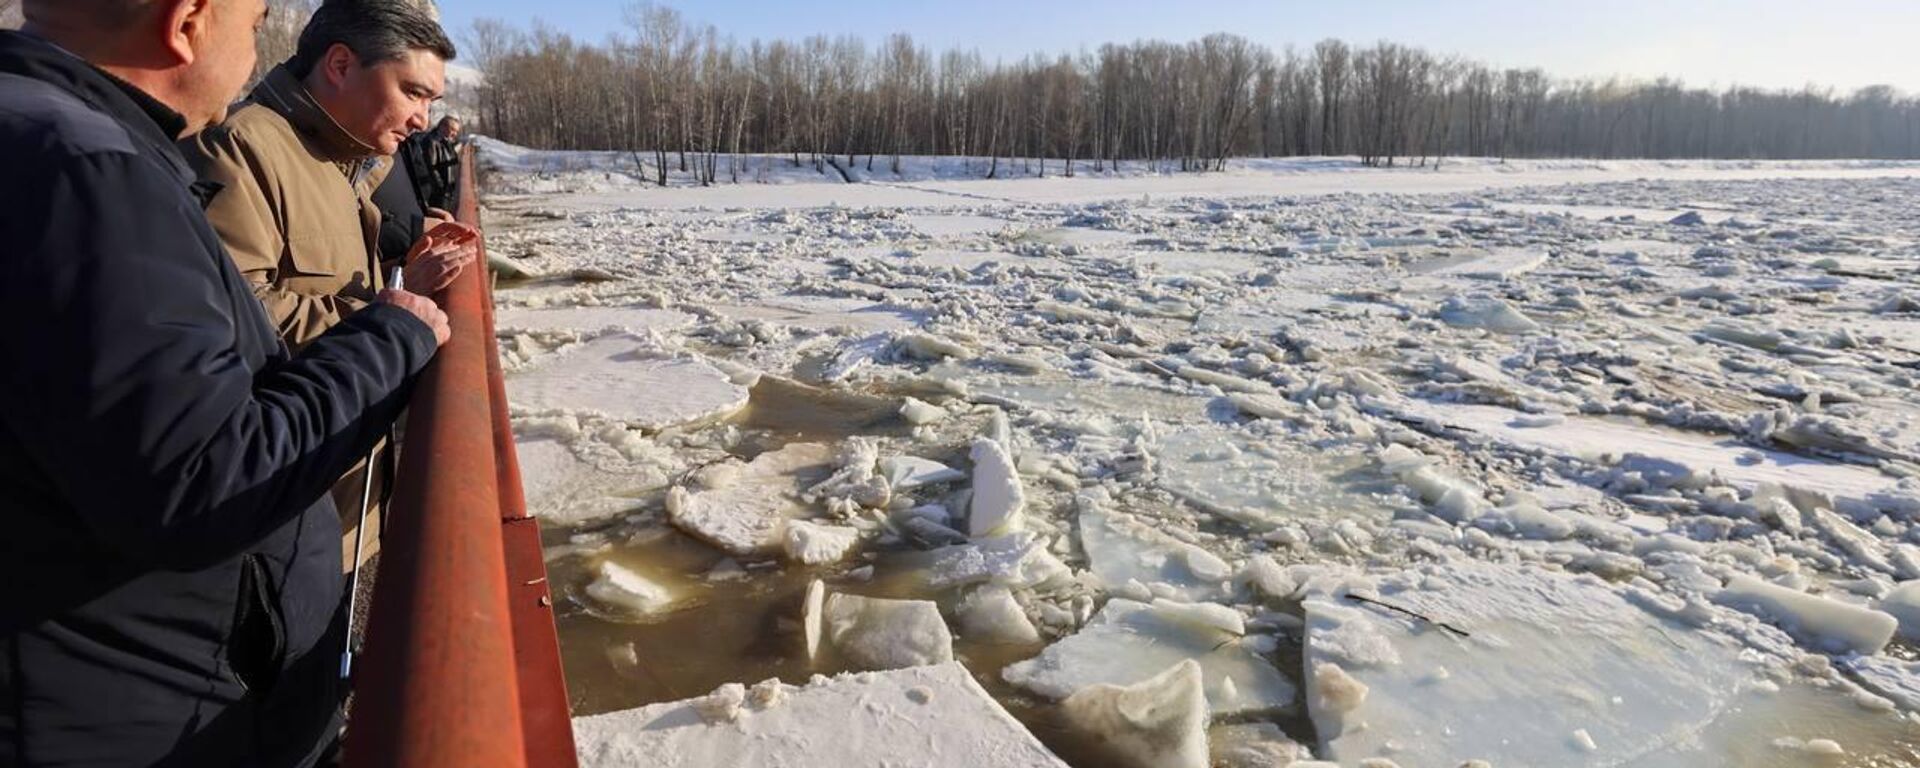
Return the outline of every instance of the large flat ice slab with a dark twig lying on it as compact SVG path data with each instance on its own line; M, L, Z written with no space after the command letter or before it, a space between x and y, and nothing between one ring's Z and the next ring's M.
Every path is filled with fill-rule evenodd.
M1317 755L1340 764L1690 766L1693 739L1761 684L1724 637L1592 578L1457 561L1396 574L1373 599L1390 609L1306 603Z

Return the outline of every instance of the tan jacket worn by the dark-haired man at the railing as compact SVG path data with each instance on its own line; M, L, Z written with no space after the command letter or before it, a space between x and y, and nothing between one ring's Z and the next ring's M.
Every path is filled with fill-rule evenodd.
M353 138L284 65L227 117L182 144L207 207L253 294L301 348L365 307L386 284L380 209L371 196L390 157Z

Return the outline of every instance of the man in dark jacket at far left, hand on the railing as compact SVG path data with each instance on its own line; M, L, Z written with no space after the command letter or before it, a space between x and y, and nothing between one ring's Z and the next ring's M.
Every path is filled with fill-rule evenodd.
M309 766L338 735L326 490L445 342L384 292L290 357L175 140L263 0L27 0L0 33L0 766Z

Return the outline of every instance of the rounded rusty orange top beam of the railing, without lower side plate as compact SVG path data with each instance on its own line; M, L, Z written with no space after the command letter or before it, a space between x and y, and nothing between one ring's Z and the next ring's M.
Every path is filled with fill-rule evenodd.
M465 165L470 198L470 156ZM488 284L482 261L436 296L453 338L422 372L407 415L367 649L353 682L351 768L528 766L501 528ZM551 626L549 618L547 632ZM547 674L561 674L557 655Z

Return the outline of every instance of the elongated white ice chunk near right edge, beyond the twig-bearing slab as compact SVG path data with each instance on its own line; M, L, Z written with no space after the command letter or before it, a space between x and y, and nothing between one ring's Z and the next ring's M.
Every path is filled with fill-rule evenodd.
M1893 639L1899 620L1828 597L1809 595L1753 576L1734 576L1715 603L1770 618L1793 639L1826 653L1880 653Z

